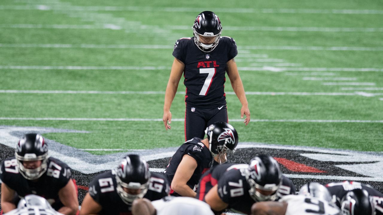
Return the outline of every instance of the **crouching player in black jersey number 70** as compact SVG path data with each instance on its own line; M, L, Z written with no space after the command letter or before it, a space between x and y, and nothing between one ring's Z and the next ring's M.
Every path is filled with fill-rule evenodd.
M250 214L255 202L278 200L296 192L291 180L282 175L277 161L267 155L255 156L250 165L230 166L220 175L204 199L216 213L230 209Z

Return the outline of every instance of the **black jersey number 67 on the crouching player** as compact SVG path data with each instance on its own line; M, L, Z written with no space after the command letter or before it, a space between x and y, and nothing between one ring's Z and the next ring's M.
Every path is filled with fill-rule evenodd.
M101 205L100 215L131 215L132 206L125 204L116 191L117 182L114 170L97 175L89 184L90 196ZM151 173L149 187L144 198L151 201L167 196L169 185L164 176Z

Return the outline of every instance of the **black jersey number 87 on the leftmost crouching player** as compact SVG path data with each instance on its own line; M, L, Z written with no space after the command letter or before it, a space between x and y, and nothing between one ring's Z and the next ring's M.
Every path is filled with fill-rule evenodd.
M16 191L18 198L15 205L28 194L35 194L44 197L55 210L64 206L59 199L59 190L72 180L72 173L69 166L62 161L49 157L47 159L47 171L36 181L24 178L17 168L15 157L5 159L1 166L0 179L8 187Z

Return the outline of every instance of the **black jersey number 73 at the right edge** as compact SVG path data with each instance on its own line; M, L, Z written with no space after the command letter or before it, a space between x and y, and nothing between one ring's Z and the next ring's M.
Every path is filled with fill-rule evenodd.
M326 184L327 189L332 195L332 199L335 201L336 205L340 207L340 201L347 192L354 189L365 189L375 203L376 215L383 215L383 194L375 190L373 187L367 184L362 184L356 181L340 181L340 182L331 182Z

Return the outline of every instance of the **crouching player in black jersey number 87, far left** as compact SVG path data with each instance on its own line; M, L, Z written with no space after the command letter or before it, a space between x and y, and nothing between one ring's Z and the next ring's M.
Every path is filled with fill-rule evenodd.
M39 134L26 134L16 145L15 157L5 159L0 170L3 212L16 208L21 197L43 196L63 214L79 209L77 185L70 168L48 156L48 146Z

